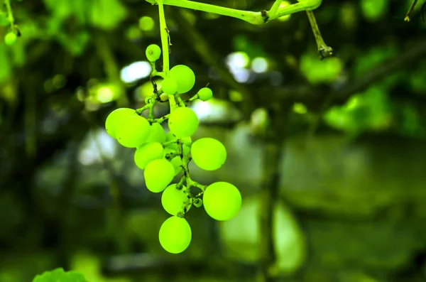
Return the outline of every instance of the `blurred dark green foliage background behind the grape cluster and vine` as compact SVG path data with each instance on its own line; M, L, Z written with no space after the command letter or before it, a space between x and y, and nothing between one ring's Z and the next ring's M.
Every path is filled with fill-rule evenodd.
M426 23L420 1L404 22L411 3L323 1L315 16L336 55L324 60L305 12L252 26L165 7L170 65L196 75L184 98L214 92L190 104L192 139L228 150L217 171L190 166L192 179L243 196L229 222L193 207L192 243L172 255L158 242L160 194L104 130L109 112L153 92L158 7L11 0L21 37L0 43L0 282L56 267L92 282L426 281Z

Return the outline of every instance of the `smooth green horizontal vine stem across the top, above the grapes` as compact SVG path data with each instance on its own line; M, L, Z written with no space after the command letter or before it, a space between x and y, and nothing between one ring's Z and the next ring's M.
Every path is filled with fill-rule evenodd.
M279 7L279 4L278 4L278 9L277 9L276 3L280 2L280 0L277 0L275 1L273 5L273 9L271 9L271 11L263 10L260 12L253 12L253 11L237 10L237 9L231 9L231 8L226 8L222 6L204 4L204 3L187 1L187 0L146 0L146 1L148 1L151 4L158 4L158 5L164 4L169 6L177 6L180 8L197 10L197 11L204 11L208 13L217 13L222 16L239 18L242 21L246 21L248 23L252 23L256 25L267 23L268 21L272 21L275 18L280 18L281 16L287 16L292 13L314 10L314 9L317 9L322 3L322 0L302 0L295 4L291 4L284 7ZM276 9L276 12L275 12L275 9Z

